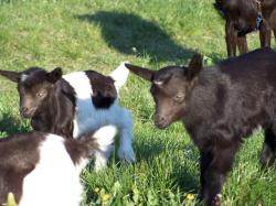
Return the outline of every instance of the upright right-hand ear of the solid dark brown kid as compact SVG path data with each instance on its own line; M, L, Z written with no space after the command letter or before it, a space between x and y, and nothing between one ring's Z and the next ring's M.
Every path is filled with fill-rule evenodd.
M199 53L195 53L189 64L188 71L185 72L188 79L189 80L193 79L193 77L200 73L202 67L203 67L203 56Z

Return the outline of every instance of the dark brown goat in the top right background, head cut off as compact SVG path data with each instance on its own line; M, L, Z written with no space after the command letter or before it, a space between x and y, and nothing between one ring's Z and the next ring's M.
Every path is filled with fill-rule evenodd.
M247 53L246 34L259 30L261 46L270 46L276 36L276 0L215 0L214 7L226 20L225 40L229 56Z

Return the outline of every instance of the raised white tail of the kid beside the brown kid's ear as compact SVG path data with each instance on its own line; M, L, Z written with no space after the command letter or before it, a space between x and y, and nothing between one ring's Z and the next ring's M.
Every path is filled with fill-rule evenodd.
M127 82L129 71L125 66L126 62L123 62L115 71L110 73L110 77L115 80L115 87L117 93L119 91L120 87L125 85Z

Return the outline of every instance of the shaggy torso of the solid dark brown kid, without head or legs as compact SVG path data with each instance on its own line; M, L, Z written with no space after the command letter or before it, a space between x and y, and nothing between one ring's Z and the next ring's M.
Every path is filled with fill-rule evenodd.
M183 117L195 142L209 135L229 143L233 138L247 137L258 126L276 126L276 53L273 50L256 50L204 68L198 83ZM208 140L198 145L208 148L205 143Z

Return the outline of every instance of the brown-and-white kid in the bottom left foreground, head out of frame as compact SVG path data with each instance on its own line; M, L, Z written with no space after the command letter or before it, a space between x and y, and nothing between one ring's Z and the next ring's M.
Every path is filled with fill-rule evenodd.
M12 193L19 206L78 206L82 169L116 132L105 126L77 140L39 131L0 139L0 205Z

